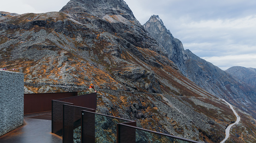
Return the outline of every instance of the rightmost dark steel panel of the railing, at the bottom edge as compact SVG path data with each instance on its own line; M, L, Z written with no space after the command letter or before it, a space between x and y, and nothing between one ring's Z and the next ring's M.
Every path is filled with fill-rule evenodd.
M136 126L136 122L117 124L117 143L136 143L136 129L125 125Z

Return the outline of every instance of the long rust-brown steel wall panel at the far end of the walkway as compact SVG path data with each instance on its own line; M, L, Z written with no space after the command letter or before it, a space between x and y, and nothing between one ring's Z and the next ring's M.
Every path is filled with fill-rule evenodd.
M24 94L24 114L51 110L51 100L77 96L77 92Z

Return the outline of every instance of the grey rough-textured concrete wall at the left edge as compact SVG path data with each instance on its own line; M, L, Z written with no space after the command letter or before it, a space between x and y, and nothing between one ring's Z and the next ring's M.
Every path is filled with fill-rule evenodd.
M0 136L23 125L24 74L0 70Z

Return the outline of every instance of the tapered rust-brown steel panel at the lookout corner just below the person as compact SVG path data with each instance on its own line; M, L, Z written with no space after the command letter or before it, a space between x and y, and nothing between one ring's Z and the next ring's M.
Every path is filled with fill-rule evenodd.
M67 97L58 99L58 101L74 103L75 106L96 109L97 108L97 93L90 93L75 97Z

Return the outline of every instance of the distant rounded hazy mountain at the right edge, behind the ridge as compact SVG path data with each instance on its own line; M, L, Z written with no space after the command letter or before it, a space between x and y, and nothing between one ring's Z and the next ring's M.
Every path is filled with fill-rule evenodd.
M247 83L252 88L256 88L256 69L236 66L225 71L235 76L237 79Z

